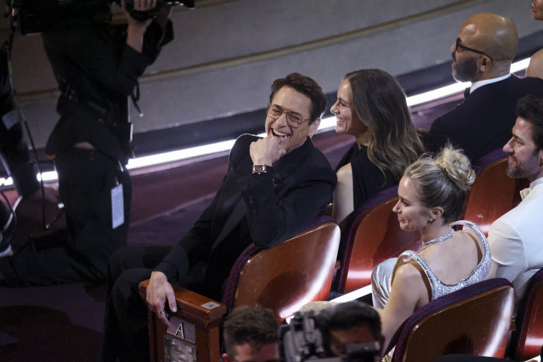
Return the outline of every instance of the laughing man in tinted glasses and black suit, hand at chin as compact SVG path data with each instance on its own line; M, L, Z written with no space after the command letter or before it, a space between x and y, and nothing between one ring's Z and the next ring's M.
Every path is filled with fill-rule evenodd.
M313 79L292 73L275 80L266 137L237 139L222 187L180 242L172 248L126 248L112 256L102 360L149 359L147 306L138 282L150 279L147 304L169 325L166 309L176 311L170 283L220 300L245 247L280 244L325 209L336 174L310 138L325 108L326 97Z

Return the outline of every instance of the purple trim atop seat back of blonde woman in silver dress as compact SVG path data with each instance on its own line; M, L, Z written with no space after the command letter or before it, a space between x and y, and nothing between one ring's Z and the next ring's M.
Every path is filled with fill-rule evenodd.
M513 285L505 278L493 278L489 280L484 280L470 285L469 287L454 291L453 293L439 297L436 300L431 301L426 304L419 310L417 310L411 317L409 317L403 325L400 327L401 332L396 333L390 341L390 346L396 346L394 354L392 356L392 362L400 362L405 353L406 342L411 334L413 328L426 317L428 314L431 314L439 309L450 306L456 302L468 299L470 297L476 296L477 294L484 293L485 291L501 287L502 285Z

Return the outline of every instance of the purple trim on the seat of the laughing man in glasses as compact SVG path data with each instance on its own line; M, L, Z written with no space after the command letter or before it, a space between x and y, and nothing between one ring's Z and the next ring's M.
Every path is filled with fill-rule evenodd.
M334 221L330 216L327 215L318 215L304 227L301 228L301 231L308 230L315 226L323 225L329 221ZM223 298L221 303L225 304L226 310L230 313L234 307L234 297L236 294L237 283L239 280L239 273L243 269L245 263L249 260L250 257L256 255L262 248L256 246L255 244L250 244L243 250L243 252L238 256L236 262L230 270L228 279L226 280L226 286L224 288Z

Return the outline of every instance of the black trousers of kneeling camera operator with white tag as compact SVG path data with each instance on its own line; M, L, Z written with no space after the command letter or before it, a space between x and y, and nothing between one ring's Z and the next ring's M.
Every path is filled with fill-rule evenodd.
M0 258L2 281L12 286L50 285L106 277L113 252L126 245L132 184L118 161L96 150L72 148L55 158L67 231L52 243L29 242ZM112 228L111 188L123 184L124 224ZM45 244L45 245L44 245Z

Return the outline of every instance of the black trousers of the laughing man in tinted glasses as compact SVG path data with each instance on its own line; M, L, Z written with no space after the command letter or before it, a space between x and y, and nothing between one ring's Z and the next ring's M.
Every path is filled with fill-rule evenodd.
M108 268L108 299L104 320L102 361L149 361L147 304L138 283L151 271L171 246L131 246L113 254Z

